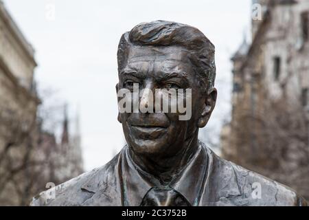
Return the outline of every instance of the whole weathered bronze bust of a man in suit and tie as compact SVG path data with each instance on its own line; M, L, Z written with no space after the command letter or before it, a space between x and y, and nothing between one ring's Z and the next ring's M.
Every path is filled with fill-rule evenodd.
M32 206L302 206L290 188L225 161L198 141L214 110L214 45L181 23L122 35L116 88L192 88L192 117L119 113L126 146L111 162L35 197ZM147 97L142 96L140 102Z

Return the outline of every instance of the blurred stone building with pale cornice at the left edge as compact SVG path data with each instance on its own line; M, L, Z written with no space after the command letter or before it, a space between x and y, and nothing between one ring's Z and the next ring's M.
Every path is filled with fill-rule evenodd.
M0 1L0 204L23 203L31 193L25 166L36 143L35 67L32 46Z

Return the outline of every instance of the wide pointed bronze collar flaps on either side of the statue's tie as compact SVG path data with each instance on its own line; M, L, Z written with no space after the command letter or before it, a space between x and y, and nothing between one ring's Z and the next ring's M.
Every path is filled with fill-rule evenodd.
M181 193L192 206L197 206L201 199L201 190L207 175L208 157L205 148L201 145L201 142L198 142L198 148L193 157L170 183L170 187ZM161 185L158 179L133 162L128 146L124 149L121 167L124 206L139 206L150 188Z

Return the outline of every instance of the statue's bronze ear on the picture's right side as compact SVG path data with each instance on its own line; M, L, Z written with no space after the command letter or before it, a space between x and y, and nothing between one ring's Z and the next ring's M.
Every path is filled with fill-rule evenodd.
M216 88L209 89L209 91L207 92L205 104L203 104L201 116L198 119L199 128L203 128L207 124L210 115L216 105L216 100L217 100L217 89Z

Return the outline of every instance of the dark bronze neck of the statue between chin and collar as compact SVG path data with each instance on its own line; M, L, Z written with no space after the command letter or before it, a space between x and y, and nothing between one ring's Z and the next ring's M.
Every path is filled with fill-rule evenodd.
M176 154L141 155L129 148L133 161L145 170L157 177L161 184L168 184L191 159L198 148L198 134L188 137Z

